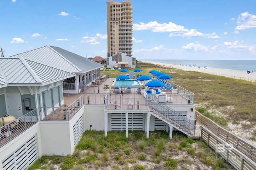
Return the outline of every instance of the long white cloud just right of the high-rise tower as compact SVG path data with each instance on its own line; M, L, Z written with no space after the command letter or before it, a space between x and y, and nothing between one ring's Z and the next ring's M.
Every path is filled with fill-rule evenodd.
M140 22L140 24L133 25L134 31L140 30L151 30L152 32L171 32L169 37L180 36L180 37L205 37L205 38L220 38L216 33L204 34L198 32L196 29L184 28L184 26L176 25L172 22L160 24L156 21L148 22L147 24Z

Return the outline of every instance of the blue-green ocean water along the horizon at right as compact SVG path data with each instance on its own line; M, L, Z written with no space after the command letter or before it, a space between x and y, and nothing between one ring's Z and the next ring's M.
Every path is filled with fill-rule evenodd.
M195 65L200 67L211 67L218 69L229 69L239 71L256 71L256 60L175 60L175 59L146 59L142 62L154 62L160 65Z

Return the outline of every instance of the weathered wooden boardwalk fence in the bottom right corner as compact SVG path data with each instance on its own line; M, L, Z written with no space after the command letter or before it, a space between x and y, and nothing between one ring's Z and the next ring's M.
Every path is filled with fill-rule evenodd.
M256 169L256 148L254 146L220 127L198 111L195 111L195 119L202 126L201 140L212 147L234 168Z

